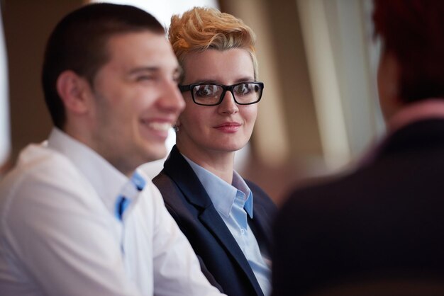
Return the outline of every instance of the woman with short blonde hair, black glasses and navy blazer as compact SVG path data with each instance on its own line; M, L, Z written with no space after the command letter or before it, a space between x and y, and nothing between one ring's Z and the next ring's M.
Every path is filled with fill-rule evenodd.
M213 8L173 16L169 38L183 69L186 108L177 144L154 178L210 282L227 295L270 294L270 197L233 169L250 140L264 84L255 35Z

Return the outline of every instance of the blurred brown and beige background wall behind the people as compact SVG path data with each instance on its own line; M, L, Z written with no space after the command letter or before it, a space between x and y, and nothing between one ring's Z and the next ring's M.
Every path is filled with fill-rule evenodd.
M159 13L159 3L172 13L195 5L192 0L171 1L141 2L157 18L166 19L169 15ZM57 21L84 2L0 1L11 127L11 152L2 173L26 144L48 136L51 123L40 87L45 42ZM370 0L210 2L242 18L257 34L265 93L252 140L237 167L278 204L289 188L349 168L382 135ZM161 162L155 169L161 169Z

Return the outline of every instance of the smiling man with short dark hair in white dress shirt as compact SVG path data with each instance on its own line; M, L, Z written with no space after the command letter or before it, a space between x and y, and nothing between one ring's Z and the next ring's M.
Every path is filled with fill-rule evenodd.
M220 295L135 171L166 153L179 74L145 11L91 4L60 21L43 65L55 127L0 185L0 295Z

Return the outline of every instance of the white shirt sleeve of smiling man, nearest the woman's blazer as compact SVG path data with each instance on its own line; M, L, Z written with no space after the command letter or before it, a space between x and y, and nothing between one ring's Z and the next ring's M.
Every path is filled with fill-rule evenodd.
M152 183L147 186L155 206L155 295L223 295L205 278L192 246L167 211L159 190Z

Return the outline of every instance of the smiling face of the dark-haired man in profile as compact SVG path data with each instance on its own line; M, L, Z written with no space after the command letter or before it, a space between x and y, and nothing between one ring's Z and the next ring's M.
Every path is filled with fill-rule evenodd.
M94 77L91 147L126 175L166 154L168 130L184 108L179 68L164 35L109 39L110 60Z

